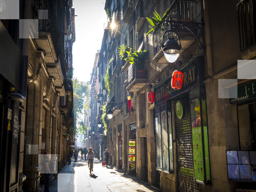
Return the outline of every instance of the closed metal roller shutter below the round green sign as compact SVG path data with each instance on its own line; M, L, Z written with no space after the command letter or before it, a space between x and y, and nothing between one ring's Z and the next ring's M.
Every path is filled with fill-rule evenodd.
M190 117L190 101L182 99L185 106L185 116L178 119L175 115L175 134L177 151L178 191L199 192L199 186L194 182L193 148Z

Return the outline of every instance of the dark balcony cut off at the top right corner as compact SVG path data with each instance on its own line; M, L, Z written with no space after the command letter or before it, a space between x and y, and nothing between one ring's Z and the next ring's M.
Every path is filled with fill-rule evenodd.
M252 0L241 1L237 4L240 52L245 60L256 55L255 9L255 3Z

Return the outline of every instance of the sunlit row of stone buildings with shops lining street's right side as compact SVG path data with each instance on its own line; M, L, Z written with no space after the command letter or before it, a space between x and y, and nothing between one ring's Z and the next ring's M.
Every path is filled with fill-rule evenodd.
M109 164L160 191L255 190L255 64L239 65L255 59L254 8L250 0L106 0L98 79L114 108L105 121ZM146 36L146 17L166 10L169 21ZM166 34L182 45L176 62L161 50ZM148 51L142 69L119 58L123 44ZM184 75L178 90L175 70Z

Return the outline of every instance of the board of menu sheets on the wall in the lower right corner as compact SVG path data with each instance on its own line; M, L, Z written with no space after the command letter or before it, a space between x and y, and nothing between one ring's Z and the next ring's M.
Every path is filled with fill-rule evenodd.
M256 181L256 152L226 150L229 181Z

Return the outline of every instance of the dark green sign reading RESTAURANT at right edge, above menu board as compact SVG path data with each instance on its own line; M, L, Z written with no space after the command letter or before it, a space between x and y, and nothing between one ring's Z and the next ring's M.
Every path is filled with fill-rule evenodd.
M232 89L229 90L232 92ZM246 83L237 87L237 98L229 99L230 103L250 100L256 97L256 81Z

